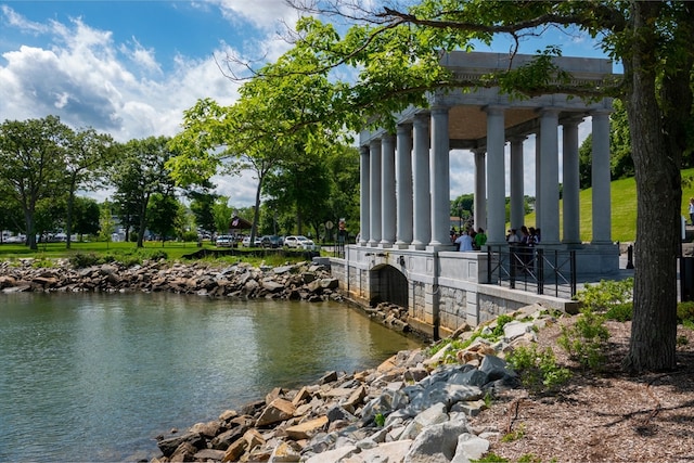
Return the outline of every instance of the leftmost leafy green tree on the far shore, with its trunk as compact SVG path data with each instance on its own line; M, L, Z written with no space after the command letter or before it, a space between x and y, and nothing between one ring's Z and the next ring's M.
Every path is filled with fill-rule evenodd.
M5 120L0 126L0 182L21 205L27 245L37 249L35 214L41 198L63 191L65 152L72 130L59 117L24 121Z

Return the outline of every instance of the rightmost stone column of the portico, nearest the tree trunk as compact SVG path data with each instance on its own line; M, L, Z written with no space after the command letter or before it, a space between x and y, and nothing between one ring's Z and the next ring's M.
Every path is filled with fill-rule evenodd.
M593 117L593 244L612 244L609 191L609 113L592 112ZM601 207L595 207L600 204Z

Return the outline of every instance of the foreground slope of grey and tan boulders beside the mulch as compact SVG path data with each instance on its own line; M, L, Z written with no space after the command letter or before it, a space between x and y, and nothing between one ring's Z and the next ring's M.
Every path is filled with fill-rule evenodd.
M448 344L432 357L422 349L401 351L376 369L330 372L300 389L278 387L265 400L218 420L160 436L162 456L153 463L477 460L499 430L473 428L468 417L500 390L519 385L504 352L534 342L537 326L549 318L543 313L538 306L522 309L524 321L504 325L494 343L477 338L463 350Z

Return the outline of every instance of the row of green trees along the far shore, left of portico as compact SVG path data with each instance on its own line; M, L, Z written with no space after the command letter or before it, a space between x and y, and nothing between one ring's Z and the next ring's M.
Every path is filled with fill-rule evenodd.
M358 228L358 153L350 147L331 153L268 169L256 218L254 207L234 207L215 193L209 179L185 188L177 183L171 159L180 153L170 138L119 143L92 128L75 130L56 116L5 120L0 125L0 230L24 234L37 249L37 236L56 231L65 234L68 248L74 234L110 240L116 220L138 246L146 232L191 240L227 232L234 211L256 218L259 233L307 227L320 235L323 223L338 217ZM237 173L247 166L235 167ZM98 196L106 200L99 203Z

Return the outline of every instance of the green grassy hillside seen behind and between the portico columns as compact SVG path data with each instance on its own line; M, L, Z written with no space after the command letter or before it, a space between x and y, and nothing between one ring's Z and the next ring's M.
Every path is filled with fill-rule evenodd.
M682 178L694 177L694 169L682 170ZM612 182L612 239L619 242L633 242L637 239L637 183L634 178ZM580 192L581 241L590 241L593 235L593 190ZM694 197L694 181L682 185L682 215L687 218L687 204ZM560 233L563 231L563 205L560 201ZM526 216L526 224L535 226L535 213Z

